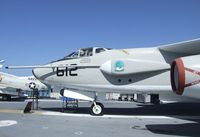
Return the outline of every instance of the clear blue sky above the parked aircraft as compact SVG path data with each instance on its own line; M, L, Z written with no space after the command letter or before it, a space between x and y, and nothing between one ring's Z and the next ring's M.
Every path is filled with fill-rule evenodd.
M199 0L0 0L0 58L5 65L38 65L81 47L135 48L199 38L199 6Z

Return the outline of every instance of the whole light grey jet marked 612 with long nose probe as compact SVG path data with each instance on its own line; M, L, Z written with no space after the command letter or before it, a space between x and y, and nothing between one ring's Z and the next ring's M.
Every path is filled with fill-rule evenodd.
M91 111L102 115L98 92L167 93L200 98L200 39L151 48L79 49L63 59L33 68L34 76L62 87L65 97L92 101ZM94 93L94 97L85 93Z

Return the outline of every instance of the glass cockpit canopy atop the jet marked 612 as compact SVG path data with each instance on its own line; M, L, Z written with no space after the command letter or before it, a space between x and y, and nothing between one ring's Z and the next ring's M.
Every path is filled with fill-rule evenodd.
M80 57L89 57L95 54L110 50L109 48L101 48L101 47L91 47L85 49L79 49L78 51L72 52L71 54L64 57L64 59L74 59Z

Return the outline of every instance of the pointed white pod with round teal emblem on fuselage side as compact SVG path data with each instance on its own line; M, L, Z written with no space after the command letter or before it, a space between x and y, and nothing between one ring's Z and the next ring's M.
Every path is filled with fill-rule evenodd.
M114 76L150 73L169 69L170 65L167 63L138 59L109 60L100 67L102 72Z

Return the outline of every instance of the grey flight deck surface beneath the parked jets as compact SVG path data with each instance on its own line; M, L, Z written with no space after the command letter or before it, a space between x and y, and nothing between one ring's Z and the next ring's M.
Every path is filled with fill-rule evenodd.
M2 137L174 137L200 135L199 102L151 105L103 101L104 116L91 116L90 103L62 112L62 101L39 100L39 110L24 114L25 102L0 102Z

